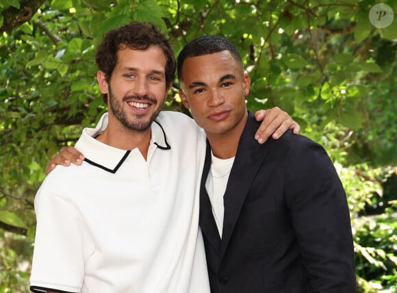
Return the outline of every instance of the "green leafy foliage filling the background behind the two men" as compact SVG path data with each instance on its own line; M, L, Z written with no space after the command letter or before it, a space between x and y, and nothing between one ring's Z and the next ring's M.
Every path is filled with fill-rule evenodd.
M397 21L372 26L377 1L0 0L0 26L33 2L40 10L0 36L1 292L27 288L29 265L21 263L31 246L15 243L33 239L44 166L105 111L95 47L132 19L168 31L176 53L203 34L238 46L251 76L248 108L287 110L335 162L348 195L359 292L396 289L395 206L365 215L397 162ZM395 1L383 2L397 11ZM175 89L166 108L187 113ZM396 188L390 192L396 198Z

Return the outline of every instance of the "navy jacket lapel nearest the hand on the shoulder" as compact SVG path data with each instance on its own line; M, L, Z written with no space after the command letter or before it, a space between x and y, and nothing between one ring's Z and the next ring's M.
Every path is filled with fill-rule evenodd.
M266 143L258 144L254 139L258 126L259 123L253 117L253 114L248 112L247 123L238 144L238 151L231 169L225 196L223 197L225 216L223 220L220 259L222 259L229 245L235 223L238 220L255 174L267 154Z

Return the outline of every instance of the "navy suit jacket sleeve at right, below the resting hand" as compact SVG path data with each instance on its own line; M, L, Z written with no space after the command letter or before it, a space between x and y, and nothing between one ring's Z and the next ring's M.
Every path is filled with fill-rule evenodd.
M322 146L302 140L285 161L285 201L309 292L355 292L353 237L344 188Z

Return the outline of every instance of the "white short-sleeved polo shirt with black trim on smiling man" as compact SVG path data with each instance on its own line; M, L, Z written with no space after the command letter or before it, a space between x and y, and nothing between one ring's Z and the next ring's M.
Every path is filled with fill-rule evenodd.
M147 161L92 138L82 166L57 166L35 199L31 290L90 293L207 293L199 230L205 133L188 116L162 112Z

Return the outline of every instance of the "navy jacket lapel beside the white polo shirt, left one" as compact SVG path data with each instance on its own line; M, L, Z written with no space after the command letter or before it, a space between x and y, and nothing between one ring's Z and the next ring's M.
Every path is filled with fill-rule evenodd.
M201 177L200 186L200 218L199 223L201 231L208 242L219 251L220 248L220 235L218 228L216 227L216 222L214 219L214 214L212 214L212 206L209 201L209 196L207 190L205 189L205 182L207 181L207 175L209 173L209 168L211 167L211 148L207 142L207 151L205 153L205 163L203 168L203 175Z

